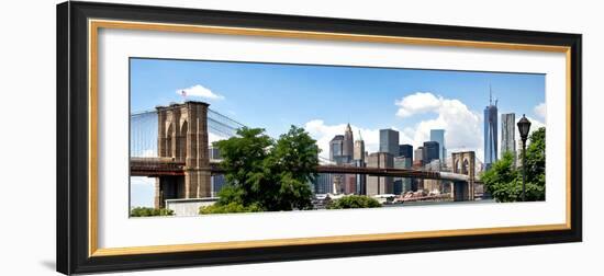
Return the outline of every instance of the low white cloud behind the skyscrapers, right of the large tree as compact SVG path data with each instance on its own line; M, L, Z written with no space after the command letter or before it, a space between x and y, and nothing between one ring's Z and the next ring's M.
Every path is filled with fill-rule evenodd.
M355 125L350 125L355 140L359 137L359 130L365 141L365 150L369 152L377 152L380 147L380 129L361 128ZM385 127L384 127L385 128ZM394 127L392 127L395 129ZM309 131L311 137L316 140L318 148L321 149L321 158L329 159L329 141L336 135L344 135L346 124L339 125L326 125L322 119L313 119L304 124L304 129ZM400 133L400 141L406 142L411 140L405 136L404 131Z

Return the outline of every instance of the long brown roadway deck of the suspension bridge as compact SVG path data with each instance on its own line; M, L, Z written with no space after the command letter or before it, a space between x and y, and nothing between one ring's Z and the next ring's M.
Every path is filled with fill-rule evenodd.
M220 160L211 160L206 168L212 174L224 173L220 168ZM412 177L425 180L447 180L469 182L465 174L447 172L428 172L409 169L360 168L345 165L317 165L317 173L366 174L372 176ZM171 158L131 158L130 173L132 176L176 176L184 175L184 161L175 161Z

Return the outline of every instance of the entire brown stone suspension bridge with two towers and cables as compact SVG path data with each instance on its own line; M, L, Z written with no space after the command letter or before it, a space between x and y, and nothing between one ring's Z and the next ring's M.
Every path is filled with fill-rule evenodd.
M156 208L163 207L166 199L210 197L210 177L225 173L221 160L212 159L209 152L211 137L227 139L241 127L244 125L204 102L187 101L131 114L131 176L155 179ZM346 166L320 159L316 173L449 181L455 200L473 200L474 173L468 169L473 160L460 158L465 159L459 160L463 165L454 165L452 172Z

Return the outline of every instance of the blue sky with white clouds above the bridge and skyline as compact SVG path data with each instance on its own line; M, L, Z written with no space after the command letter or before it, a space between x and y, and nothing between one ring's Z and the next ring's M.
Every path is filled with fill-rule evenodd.
M489 89L500 114L526 114L545 124L545 74L301 66L251 62L131 59L131 111L204 101L216 112L272 137L305 127L324 149L350 123L368 150L377 131L394 128L415 147L429 128L446 129L449 149L482 157L482 111ZM197 96L195 96L197 94ZM540 107L539 107L540 106ZM500 115L501 116L501 115ZM355 137L357 138L357 137ZM328 151L328 150L327 150ZM449 151L451 152L451 151ZM133 194L133 204L135 202Z

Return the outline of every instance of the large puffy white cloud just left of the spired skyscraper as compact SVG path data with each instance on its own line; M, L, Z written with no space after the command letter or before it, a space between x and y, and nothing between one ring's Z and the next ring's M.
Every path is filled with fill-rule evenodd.
M445 129L445 147L448 153L474 150L478 158L482 159L482 117L461 101L429 92L417 92L398 100L395 104L399 106L396 116L403 119L426 113L437 115L433 119L404 128L404 133L412 137L414 148L429 140L430 129Z

